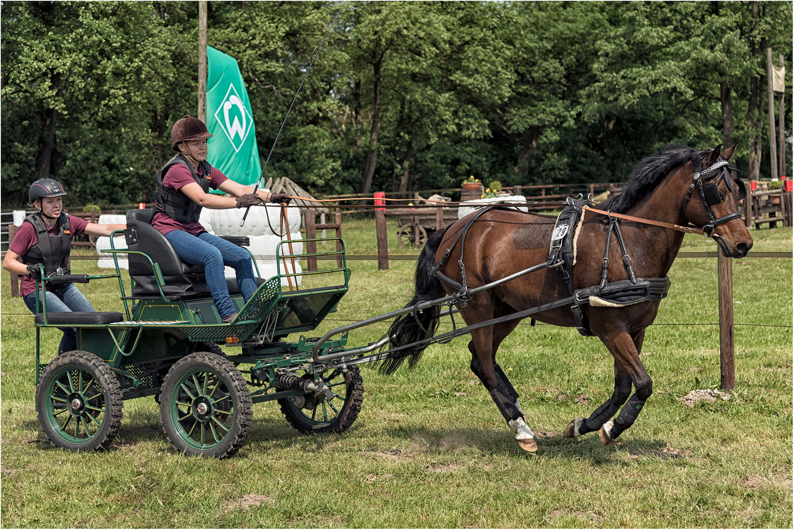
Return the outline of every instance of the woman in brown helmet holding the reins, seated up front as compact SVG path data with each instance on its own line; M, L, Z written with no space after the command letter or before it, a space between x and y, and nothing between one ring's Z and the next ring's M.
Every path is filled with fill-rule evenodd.
M157 174L152 226L164 234L179 258L191 265L202 265L218 315L229 323L237 317L224 266L233 267L244 301L256 292L251 256L244 248L207 232L198 222L203 207L210 209L246 208L253 205L290 201L287 194L254 190L230 180L206 161L207 139L212 135L203 121L185 116L171 130L171 143L179 153ZM234 197L208 193L210 187Z

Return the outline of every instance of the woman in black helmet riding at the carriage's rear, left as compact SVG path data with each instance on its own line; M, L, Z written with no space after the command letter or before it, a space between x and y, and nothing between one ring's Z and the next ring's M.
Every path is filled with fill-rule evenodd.
M2 267L6 271L22 276L20 296L31 312L36 313L36 282L41 279L39 265L44 266L44 275L70 274L68 267L71 239L82 233L91 236L110 236L114 230L123 230L125 225L98 225L79 217L67 215L64 209L64 186L53 179L38 179L28 190L30 205L38 210L25 217L17 235L8 247ZM53 313L71 311L94 311L91 302L73 283L45 282L41 291L47 302L47 310ZM39 307L42 307L39 298ZM60 328L64 332L58 346L58 355L77 349L77 330Z

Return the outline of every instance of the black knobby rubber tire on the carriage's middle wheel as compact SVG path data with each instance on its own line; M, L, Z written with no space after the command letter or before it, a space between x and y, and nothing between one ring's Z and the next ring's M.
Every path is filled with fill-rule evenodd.
M190 439L194 444L195 440L190 438L179 421L172 418L171 403L179 390L177 387L179 379L184 374L197 370L212 371L221 379L228 389L234 412L229 432L220 442L206 449L191 445L187 440ZM163 420L163 432L168 436L168 441L180 453L224 459L234 455L245 443L245 436L248 435L253 416L251 394L240 371L225 357L206 351L197 351L179 359L166 374L160 390L160 417ZM192 407L189 410L192 412Z

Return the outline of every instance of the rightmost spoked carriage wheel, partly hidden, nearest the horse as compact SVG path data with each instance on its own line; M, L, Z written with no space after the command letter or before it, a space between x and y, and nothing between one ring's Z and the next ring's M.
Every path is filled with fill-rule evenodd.
M304 374L303 379L323 381L330 386L333 397L310 392L279 399L287 421L301 432L342 432L349 428L361 411L364 401L363 379L358 367L329 371L327 374Z

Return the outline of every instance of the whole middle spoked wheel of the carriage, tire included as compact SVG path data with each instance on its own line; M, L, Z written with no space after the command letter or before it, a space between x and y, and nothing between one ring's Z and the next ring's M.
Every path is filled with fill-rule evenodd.
M174 364L160 394L163 431L177 451L225 458L236 453L251 426L251 394L227 359L196 352Z

